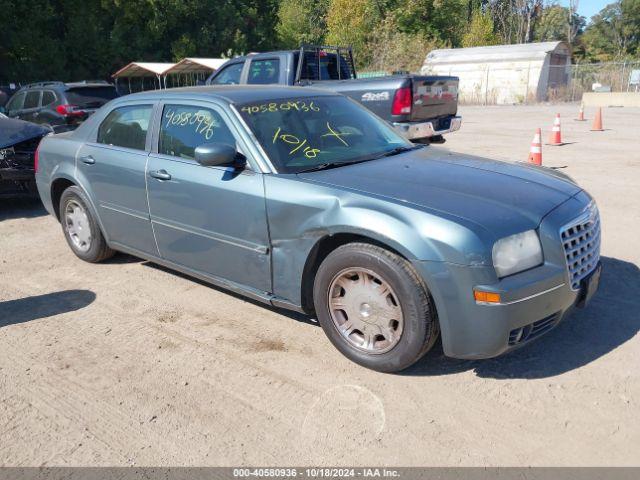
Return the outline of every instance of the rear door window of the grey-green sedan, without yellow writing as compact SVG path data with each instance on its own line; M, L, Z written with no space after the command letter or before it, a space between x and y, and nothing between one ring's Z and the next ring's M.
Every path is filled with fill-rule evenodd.
M151 105L132 105L114 109L98 128L98 143L144 150Z

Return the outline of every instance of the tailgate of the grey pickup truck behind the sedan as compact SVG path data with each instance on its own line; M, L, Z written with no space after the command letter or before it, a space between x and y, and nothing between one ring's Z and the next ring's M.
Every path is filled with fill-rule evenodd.
M458 77L412 76L412 122L455 115L458 110Z

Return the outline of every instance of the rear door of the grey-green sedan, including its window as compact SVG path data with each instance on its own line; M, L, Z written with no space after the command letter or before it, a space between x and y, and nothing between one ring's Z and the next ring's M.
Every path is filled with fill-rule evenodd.
M151 104L112 110L98 127L94 141L80 148L76 163L87 180L109 241L157 256L145 178L152 112Z

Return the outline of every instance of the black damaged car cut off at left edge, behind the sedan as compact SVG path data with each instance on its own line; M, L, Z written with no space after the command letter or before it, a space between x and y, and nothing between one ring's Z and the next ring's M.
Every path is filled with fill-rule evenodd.
M0 197L37 195L35 152L51 129L0 113Z

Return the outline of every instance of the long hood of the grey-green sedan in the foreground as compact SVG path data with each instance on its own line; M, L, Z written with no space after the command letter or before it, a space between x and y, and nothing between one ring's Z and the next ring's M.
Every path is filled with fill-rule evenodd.
M299 177L465 219L495 238L536 228L581 190L554 170L434 147Z

